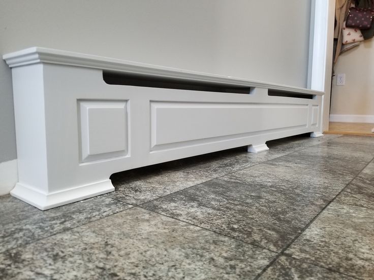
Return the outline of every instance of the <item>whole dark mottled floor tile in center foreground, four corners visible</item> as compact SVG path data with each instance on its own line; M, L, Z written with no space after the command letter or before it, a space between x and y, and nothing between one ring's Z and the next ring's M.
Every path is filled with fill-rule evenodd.
M142 207L280 251L326 204L297 193L212 180Z

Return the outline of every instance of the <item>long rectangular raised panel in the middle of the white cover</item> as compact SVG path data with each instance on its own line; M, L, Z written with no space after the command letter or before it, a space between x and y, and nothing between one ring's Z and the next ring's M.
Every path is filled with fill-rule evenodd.
M151 101L151 150L161 145L307 126L306 104Z

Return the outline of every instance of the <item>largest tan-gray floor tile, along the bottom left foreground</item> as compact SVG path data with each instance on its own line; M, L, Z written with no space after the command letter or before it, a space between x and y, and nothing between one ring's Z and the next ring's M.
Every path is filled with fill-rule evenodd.
M275 256L134 207L0 254L6 279L253 279Z

